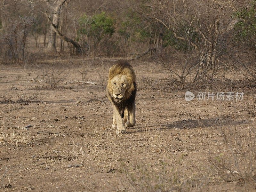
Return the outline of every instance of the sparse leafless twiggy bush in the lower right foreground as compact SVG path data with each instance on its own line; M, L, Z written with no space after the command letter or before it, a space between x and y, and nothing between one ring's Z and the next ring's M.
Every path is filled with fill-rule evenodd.
M223 143L226 147L220 154L212 154L209 148L209 161L218 176L228 182L244 181L256 185L256 129L220 126Z

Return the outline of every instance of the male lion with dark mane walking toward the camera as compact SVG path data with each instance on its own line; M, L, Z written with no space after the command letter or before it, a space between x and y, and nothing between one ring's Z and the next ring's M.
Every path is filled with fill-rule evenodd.
M117 61L108 72L107 96L113 108L113 128L125 133L135 125L136 76L132 66L124 60ZM122 119L124 117L124 120Z

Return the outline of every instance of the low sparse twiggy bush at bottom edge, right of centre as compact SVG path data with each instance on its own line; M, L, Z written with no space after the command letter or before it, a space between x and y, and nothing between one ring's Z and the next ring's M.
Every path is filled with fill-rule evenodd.
M170 172L166 169L162 160L159 160L157 171L150 171L143 165L136 165L132 170L121 162L124 180L116 186L116 191L140 191L140 192L167 192L167 191L200 191L204 187L204 180L186 178L178 172ZM125 182L124 182L125 181Z

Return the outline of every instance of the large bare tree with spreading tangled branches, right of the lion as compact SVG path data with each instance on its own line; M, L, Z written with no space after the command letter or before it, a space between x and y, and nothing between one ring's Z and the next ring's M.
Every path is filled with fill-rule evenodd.
M160 3L153 0L148 6L151 10L148 17L162 23L175 38L190 41L195 49L200 49L206 68L214 66L225 46L225 37L234 25L229 1L166 0Z

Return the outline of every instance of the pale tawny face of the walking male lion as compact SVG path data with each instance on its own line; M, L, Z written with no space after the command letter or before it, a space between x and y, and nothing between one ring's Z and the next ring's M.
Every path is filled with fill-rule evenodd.
M112 96L116 101L122 101L124 99L125 92L129 87L127 81L127 75L118 74L111 79L111 87L113 89Z

